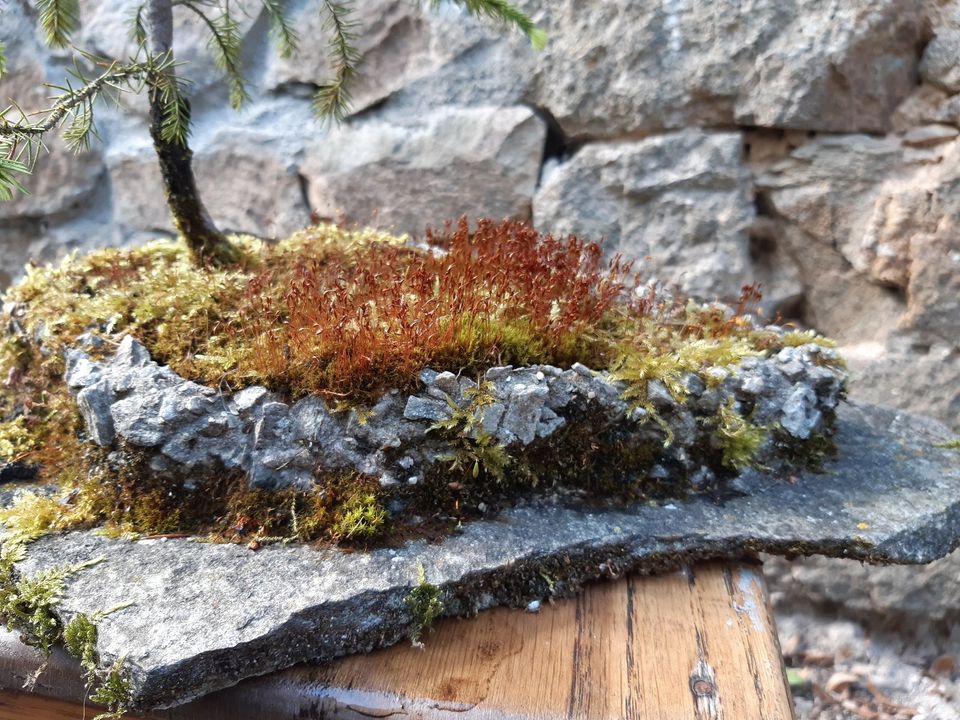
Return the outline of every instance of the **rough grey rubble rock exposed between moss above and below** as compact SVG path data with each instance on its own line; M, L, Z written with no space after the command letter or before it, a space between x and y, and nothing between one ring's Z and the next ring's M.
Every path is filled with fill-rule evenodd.
M836 353L820 345L787 347L773 358L747 357L739 367L726 368L723 382L709 390L691 373L684 404L663 383L651 381L647 397L672 433L660 467L681 476L710 470L699 467L705 460L697 448L711 444L713 431L702 421L720 405L785 433L770 433L760 462L776 462L782 442L828 431L826 418L840 402L845 380L831 360ZM421 373L422 392L389 392L363 421L357 410L334 412L319 397L289 405L259 387L226 396L153 362L130 336L107 363L68 351L65 379L77 393L91 440L105 448L120 442L144 450L151 455L150 471L185 483L211 471L240 470L256 487L306 489L316 468L344 467L377 477L387 488L404 479L417 482L455 451L450 439L431 433L455 413L475 419L471 437L482 428L498 445L519 451L577 423L589 423L597 437L617 429L625 444L664 441L662 425L644 420L645 411L627 419L623 383L583 366L492 368L481 389L489 397L478 405L471 399L474 381L428 369Z

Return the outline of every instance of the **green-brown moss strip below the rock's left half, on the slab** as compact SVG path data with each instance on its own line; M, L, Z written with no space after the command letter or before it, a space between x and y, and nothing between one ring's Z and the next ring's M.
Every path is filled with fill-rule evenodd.
M364 543L389 529L379 484L358 473L328 473L311 490L249 487L242 474L214 472L185 484L159 477L142 451L89 449L89 469L64 479L55 492L21 492L0 522L18 538L101 527L114 537L190 533L213 540L270 542L331 540Z

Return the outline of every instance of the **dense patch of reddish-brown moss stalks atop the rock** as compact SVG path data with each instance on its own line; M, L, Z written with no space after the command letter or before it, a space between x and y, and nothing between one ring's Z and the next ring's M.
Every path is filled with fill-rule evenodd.
M603 364L592 330L636 282L629 265L517 222L461 221L429 240L433 252L371 244L255 278L252 322L237 328L255 373L295 393L370 397L424 367Z

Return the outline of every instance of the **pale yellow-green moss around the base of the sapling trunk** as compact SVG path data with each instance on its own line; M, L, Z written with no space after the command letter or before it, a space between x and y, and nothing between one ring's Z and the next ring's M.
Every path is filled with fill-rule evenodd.
M304 258L342 262L370 245L396 245L405 238L373 230L334 226L307 228L277 244L246 236L232 242L241 259L229 267L198 266L181 240L157 240L142 247L73 254L56 267L30 267L26 278L7 292L21 304L24 334L42 329L46 358L42 364L62 372L63 349L92 330L108 340L131 334L159 362L186 377L217 384L231 373L235 383L251 382L251 348L246 338L231 336L231 324L245 322L249 284L273 272L274 286L264 286L259 302L278 300L284 273ZM273 296L271 296L273 293ZM24 365L24 350L7 351ZM6 363L12 365L8 359Z

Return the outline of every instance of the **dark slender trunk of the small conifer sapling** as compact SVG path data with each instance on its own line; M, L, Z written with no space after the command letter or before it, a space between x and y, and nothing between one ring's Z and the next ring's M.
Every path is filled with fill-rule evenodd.
M173 46L172 0L149 0L146 19L151 55L170 52ZM183 235L197 262L220 264L234 261L236 248L214 224L200 199L193 176L193 151L187 139L164 139L164 105L161 91L155 84L149 88L149 98L150 136L160 161L164 193L177 230Z

